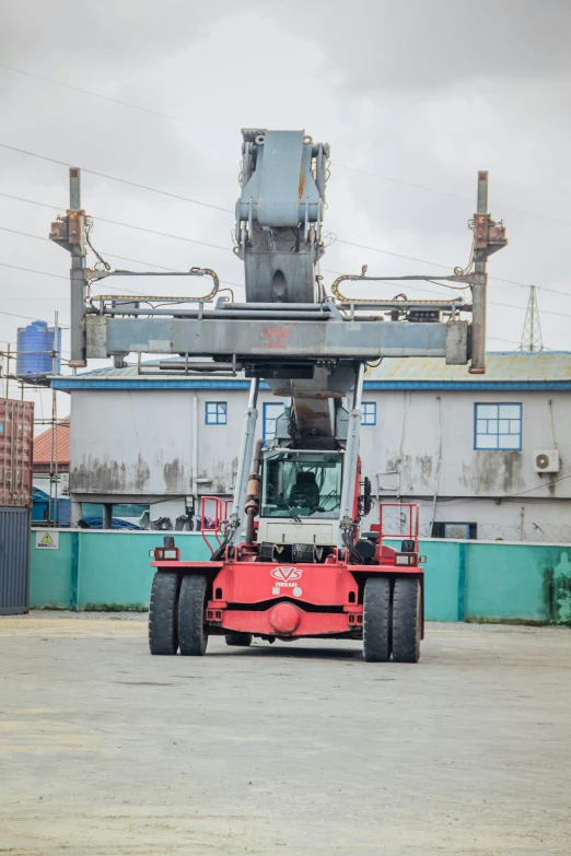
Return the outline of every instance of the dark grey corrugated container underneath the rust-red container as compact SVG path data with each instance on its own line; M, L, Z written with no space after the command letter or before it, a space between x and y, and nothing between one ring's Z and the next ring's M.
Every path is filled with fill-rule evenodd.
M0 506L0 615L27 612L30 508Z

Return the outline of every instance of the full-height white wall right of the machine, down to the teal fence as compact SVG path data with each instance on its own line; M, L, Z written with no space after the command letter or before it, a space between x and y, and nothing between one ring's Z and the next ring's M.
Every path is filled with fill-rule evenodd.
M374 397L376 427L361 435L365 470L380 500L420 502L424 536L434 519L477 523L481 540L571 540L569 392L369 390L363 400ZM521 452L474 448L476 402L522 404ZM534 453L553 448L560 471L535 472Z

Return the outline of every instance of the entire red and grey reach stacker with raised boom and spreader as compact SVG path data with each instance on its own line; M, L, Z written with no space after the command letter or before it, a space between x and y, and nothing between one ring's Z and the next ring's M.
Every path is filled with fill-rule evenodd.
M482 374L487 260L508 238L488 212L488 173L480 172L467 266L396 278L369 275L363 266L326 290L319 262L331 242L324 231L329 157L328 143L303 130L242 130L233 232L244 265L238 301L228 289L221 293L210 267L114 270L98 253L100 263L88 267L93 223L81 207L80 171L70 169L70 208L49 235L71 255L70 365L110 356L121 366L136 353L141 375L250 380L230 514L212 500L218 511L209 538L218 543L210 561L180 561L172 536L152 551L153 654L202 655L208 637L219 634L229 645L249 645L253 636L362 638L366 660L419 658L419 511L381 505L378 523L371 517L371 483L361 479L359 457L365 367L384 357L422 356ZM365 237L354 246L368 249ZM199 296L148 294L141 302L92 295L100 280L136 275L187 283L208 277L212 286ZM395 279L398 294L380 293L393 290ZM424 300L401 291L434 280L455 283L452 296ZM354 283L362 294L352 292ZM170 359L144 366L144 353ZM284 411L268 446L254 449L260 382ZM382 443L382 427L374 431ZM196 461L193 470L203 526ZM396 515L396 524L385 526L387 515Z

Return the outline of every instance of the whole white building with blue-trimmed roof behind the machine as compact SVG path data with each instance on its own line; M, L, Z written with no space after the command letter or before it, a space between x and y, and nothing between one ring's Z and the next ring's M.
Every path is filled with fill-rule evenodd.
M247 380L130 366L55 386L71 395L75 519L85 502L144 503L174 518L185 496L231 496ZM424 535L571 541L570 391L568 352L490 353L486 375L385 359L364 385L363 472L380 500L421 504ZM282 402L263 388L258 409L270 438Z

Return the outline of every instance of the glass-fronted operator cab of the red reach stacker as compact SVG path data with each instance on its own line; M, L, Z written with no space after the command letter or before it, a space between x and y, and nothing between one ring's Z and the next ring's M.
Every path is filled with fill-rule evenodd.
M267 449L258 542L337 543L343 452Z

